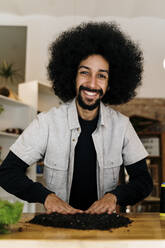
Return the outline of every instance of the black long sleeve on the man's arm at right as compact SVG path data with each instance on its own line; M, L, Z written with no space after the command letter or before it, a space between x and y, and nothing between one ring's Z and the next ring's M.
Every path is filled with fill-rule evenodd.
M148 172L146 160L125 166L129 182L118 185L109 193L116 195L120 206L134 205L147 197L153 189L152 178Z

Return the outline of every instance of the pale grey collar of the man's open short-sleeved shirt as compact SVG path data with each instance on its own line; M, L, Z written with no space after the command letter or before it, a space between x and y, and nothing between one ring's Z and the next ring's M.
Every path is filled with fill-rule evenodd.
M105 116L106 115L106 107L101 102L100 103L100 111L99 111L99 120L98 120L98 127L100 125L105 125ZM68 106L68 123L70 129L80 128L80 123L78 120L78 112L76 107L76 98L74 98Z

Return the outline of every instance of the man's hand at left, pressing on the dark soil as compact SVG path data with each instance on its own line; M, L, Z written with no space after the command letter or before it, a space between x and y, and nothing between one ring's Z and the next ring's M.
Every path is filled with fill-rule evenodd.
M72 208L68 203L60 199L56 194L51 193L46 197L44 207L47 214L57 212L60 214L77 214L83 213L82 210Z

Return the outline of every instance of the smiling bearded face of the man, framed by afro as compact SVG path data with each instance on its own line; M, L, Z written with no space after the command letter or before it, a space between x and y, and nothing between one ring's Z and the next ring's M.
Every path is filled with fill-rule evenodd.
M91 55L79 64L76 97L83 109L93 110L100 104L108 87L109 64L101 55Z

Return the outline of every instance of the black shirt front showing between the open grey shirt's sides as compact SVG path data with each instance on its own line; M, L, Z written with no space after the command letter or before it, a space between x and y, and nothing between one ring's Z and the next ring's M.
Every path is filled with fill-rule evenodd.
M91 120L79 117L81 133L75 147L74 172L69 204L86 210L98 199L96 183L96 151L92 133L96 129L98 116Z

